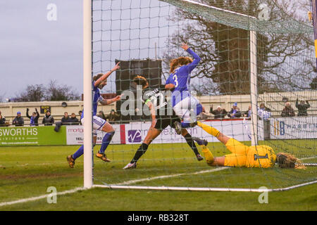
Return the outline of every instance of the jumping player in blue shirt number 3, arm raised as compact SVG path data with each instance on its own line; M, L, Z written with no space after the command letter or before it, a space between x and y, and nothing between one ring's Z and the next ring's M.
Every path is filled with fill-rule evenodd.
M174 84L175 89L172 91L172 105L176 115L183 122L175 123L175 131L180 134L182 128L191 127L196 122L196 117L202 112L202 105L197 98L189 93L190 73L197 67L200 62L199 56L194 53L187 44L182 44L182 49L187 51L192 58L179 57L170 61L170 77L166 80L166 85Z

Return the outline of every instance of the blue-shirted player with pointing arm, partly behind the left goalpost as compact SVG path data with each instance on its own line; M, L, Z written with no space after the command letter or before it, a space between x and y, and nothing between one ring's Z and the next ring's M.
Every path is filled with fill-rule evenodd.
M110 162L110 160L106 157L105 150L108 147L113 134L115 133L115 130L109 124L106 122L106 120L101 119L100 117L97 117L97 106L98 102L101 103L101 105L108 105L116 101L120 101L121 96L116 96L116 98L112 98L110 100L104 99L99 92L99 89L103 89L104 86L107 84L107 78L111 75L112 72L118 70L120 68L119 63L112 68L111 71L107 72L106 74L99 74L93 77L92 82L92 88L93 88L93 99L92 99L92 108L93 108L93 119L92 119L92 127L94 129L94 136L93 141L94 145L97 141L97 130L106 132L106 135L102 139L102 144L99 152L96 154L97 158L100 158L104 162ZM82 117L81 117L82 124L84 123L84 110L82 110ZM80 146L80 148L73 154L68 155L67 161L70 168L73 168L75 165L75 160L79 158L84 153L84 146Z

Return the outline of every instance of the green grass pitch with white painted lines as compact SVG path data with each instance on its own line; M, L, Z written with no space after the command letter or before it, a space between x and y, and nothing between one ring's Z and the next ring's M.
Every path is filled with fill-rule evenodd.
M316 141L271 141L271 146L287 149L304 162L316 162ZM298 146L301 146L299 149ZM304 148L304 147L307 148ZM310 146L310 147L309 147ZM78 146L0 148L0 203L47 194L49 186L58 192L82 186L82 158L70 169L66 156ZM138 145L111 145L110 163L94 160L95 184L138 186L185 186L218 188L284 188L316 180L316 167L300 169L228 168L218 172L205 161L198 162L185 143L154 144L139 160L137 169L123 170ZM213 154L228 151L220 143L209 143ZM276 148L275 148L276 149ZM95 147L95 153L99 146ZM279 150L276 150L277 152ZM175 174L182 174L175 176ZM170 177L168 177L170 175ZM161 179L144 180L166 176ZM0 207L0 210L317 210L317 184L291 191L268 193L268 204L260 204L260 193L191 191L135 191L94 188L58 195L56 204L46 199Z

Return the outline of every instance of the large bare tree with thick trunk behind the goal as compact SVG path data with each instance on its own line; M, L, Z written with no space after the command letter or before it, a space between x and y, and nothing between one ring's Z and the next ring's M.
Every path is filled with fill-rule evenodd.
M210 6L225 8L237 13L257 16L257 0L201 0ZM294 20L304 23L297 15L299 2L266 1L273 21ZM248 94L249 93L249 31L212 22L201 15L179 8L172 18L182 24L180 30L168 39L165 68L168 61L177 58L179 45L187 42L201 57L197 72L192 77L205 77L201 86L194 89L204 94ZM291 91L309 88L315 70L311 60L313 39L310 34L285 34L276 30L257 32L257 67L259 93L264 91ZM310 54L309 54L310 52ZM215 85L216 84L216 85Z

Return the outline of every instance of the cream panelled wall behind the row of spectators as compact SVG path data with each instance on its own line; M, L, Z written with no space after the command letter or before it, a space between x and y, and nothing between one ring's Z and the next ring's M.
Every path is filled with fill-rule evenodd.
M294 108L297 115L298 110L295 107L295 103L299 96L302 96L299 100L308 100L311 108L307 110L309 115L317 115L317 91L292 91L292 92L276 92L276 93L265 93L259 94L258 105L260 103L265 103L268 108L272 110L272 117L280 117L282 109L285 106L285 103L282 101L282 98L286 96L288 101L290 101L292 108ZM305 97L304 97L305 96ZM221 96L197 96L200 103L206 108L206 111L209 112L209 108L213 105L213 109L216 109L218 105L226 110L232 108L232 104L237 102L238 107L242 112L248 109L251 105L250 95L221 95ZM25 112L27 108L30 108L31 113L34 108L38 110L47 105L51 108L51 115L53 115L55 121L60 121L63 117L64 112L75 113L78 117L78 111L83 108L83 101L66 101L67 107L63 107L63 101L44 101L44 102L9 102L9 103L0 103L0 111L7 121L12 123L16 113L20 111L27 124L30 120L25 117ZM110 113L112 109L116 109L116 103L111 103L110 105L98 105L98 111L102 110L105 114ZM40 113L39 124L42 124L44 113Z

